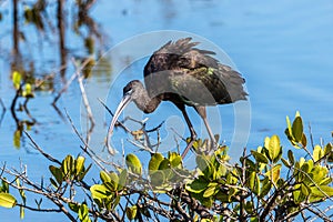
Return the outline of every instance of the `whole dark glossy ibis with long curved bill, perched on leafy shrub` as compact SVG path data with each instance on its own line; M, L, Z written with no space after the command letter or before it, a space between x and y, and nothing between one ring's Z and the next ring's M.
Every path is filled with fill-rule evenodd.
M209 132L213 144L216 144L206 120L205 105L232 103L246 100L243 89L244 79L231 67L214 59L212 51L195 48L199 42L192 38L169 41L155 51L144 67L144 85L139 80L130 81L123 88L123 98L109 127L107 147L114 124L133 101L144 113L153 112L161 101L173 102L182 112L191 132L191 140L182 153L184 158L195 141L196 133L189 119L185 105L193 107Z

